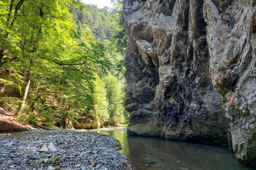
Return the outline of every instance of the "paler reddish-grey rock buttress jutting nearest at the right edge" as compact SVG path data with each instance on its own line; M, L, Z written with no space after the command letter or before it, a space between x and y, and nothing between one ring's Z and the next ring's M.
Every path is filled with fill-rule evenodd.
M210 73L240 163L256 166L256 1L206 0Z

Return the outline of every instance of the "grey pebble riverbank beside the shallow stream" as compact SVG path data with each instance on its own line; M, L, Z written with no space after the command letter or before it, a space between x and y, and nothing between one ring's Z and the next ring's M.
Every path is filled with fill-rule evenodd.
M132 170L110 135L38 129L0 134L0 170Z

